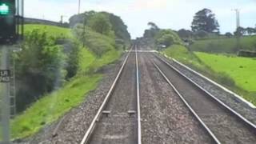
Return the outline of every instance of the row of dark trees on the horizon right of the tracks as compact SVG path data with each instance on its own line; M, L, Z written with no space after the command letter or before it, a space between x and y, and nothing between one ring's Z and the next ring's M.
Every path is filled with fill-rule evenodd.
M160 30L154 22L149 22L150 29L145 30L144 38L154 38L157 31ZM198 38L216 38L218 36L225 36L226 38L232 38L234 36L252 35L256 34L256 27L238 27L234 33L226 32L226 34L220 34L219 23L215 14L210 9L199 10L191 22L191 30L181 29L173 30L183 40L198 39Z

